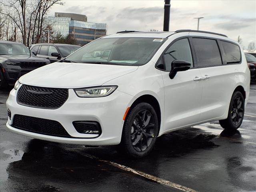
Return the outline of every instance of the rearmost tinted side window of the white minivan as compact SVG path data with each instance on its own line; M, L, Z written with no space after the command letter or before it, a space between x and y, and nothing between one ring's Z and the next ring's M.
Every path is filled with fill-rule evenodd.
M223 53L224 63L225 64L240 63L241 54L240 54L239 46L226 41L221 41L221 44L224 52Z

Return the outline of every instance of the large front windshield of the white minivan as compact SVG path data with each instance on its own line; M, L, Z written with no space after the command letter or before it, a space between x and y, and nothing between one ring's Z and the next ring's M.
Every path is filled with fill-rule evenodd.
M152 58L163 42L162 38L100 38L68 56L66 60L140 66Z

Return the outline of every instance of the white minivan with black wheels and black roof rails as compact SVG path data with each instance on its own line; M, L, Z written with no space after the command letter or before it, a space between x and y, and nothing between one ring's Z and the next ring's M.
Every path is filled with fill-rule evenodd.
M22 76L6 126L52 142L120 144L143 157L174 130L215 120L236 130L249 89L242 48L225 35L121 32Z

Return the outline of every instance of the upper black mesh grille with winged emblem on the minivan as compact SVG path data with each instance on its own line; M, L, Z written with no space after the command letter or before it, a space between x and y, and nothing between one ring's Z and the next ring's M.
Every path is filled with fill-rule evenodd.
M68 89L22 85L18 90L18 104L36 108L56 109L68 99Z

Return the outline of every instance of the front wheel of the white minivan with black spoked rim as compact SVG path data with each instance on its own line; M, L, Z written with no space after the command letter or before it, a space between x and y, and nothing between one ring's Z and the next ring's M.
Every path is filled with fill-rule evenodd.
M147 156L154 147L158 134L158 118L148 103L137 104L126 117L121 149L134 158Z

